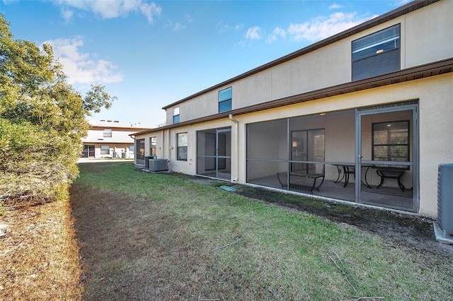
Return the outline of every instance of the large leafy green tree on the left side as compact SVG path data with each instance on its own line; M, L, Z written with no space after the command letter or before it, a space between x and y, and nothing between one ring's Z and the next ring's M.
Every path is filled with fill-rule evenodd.
M13 40L0 14L0 202L67 196L79 173L86 116L113 100L102 85L83 98L67 83L52 46Z

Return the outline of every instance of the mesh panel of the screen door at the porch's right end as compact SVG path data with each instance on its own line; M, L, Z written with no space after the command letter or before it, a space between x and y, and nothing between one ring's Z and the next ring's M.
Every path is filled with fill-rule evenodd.
M413 110L395 107L394 112L374 112L362 114L360 118L362 165L371 166L367 185L360 185L360 202L416 211L417 203L413 197Z

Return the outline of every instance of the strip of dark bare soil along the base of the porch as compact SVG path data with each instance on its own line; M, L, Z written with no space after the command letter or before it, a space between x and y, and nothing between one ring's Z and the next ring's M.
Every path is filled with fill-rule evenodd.
M218 184L218 181L201 177L193 177L190 181L206 185ZM352 225L420 252L433 252L453 257L452 244L442 244L436 241L432 225L433 220L430 218L379 208L355 206L353 204L348 205L315 199L307 201L304 197L258 187L248 187L239 184L231 184L230 186L236 188L234 193L251 199L275 203L298 211L306 211L316 216L327 218L335 223Z

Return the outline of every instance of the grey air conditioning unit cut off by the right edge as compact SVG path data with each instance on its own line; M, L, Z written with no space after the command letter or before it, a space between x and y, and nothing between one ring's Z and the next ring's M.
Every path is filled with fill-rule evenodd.
M436 240L453 244L453 164L442 164L437 173Z

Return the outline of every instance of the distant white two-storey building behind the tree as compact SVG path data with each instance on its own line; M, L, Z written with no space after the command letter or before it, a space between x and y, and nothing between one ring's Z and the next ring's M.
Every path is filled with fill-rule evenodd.
M111 120L90 122L88 136L82 139L81 158L134 158L134 138L130 134L149 128Z

